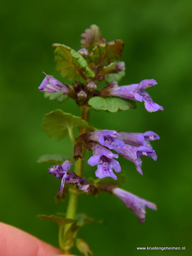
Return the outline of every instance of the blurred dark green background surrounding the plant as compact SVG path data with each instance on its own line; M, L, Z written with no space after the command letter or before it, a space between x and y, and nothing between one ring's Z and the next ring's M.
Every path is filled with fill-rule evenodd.
M42 71L64 81L55 71L51 45L79 50L80 34L97 24L106 41L125 43L121 60L126 76L119 85L150 78L158 82L147 92L164 111L148 113L138 102L135 110L90 115L90 122L101 129L160 135L152 142L158 160L143 159L143 176L132 162L119 159L127 176L123 188L155 202L158 211L147 208L146 222L140 224L115 196L82 196L78 212L105 223L85 226L79 236L95 256L191 255L191 1L2 0L0 20L0 221L58 246L57 224L37 215L64 212L67 200L55 203L60 180L47 173L49 165L36 160L43 154L72 156L73 149L68 138L56 142L40 125L52 110L77 116L80 111L72 100L50 101L37 88ZM94 176L94 170L85 164L86 176ZM186 251L138 251L137 246L186 246Z

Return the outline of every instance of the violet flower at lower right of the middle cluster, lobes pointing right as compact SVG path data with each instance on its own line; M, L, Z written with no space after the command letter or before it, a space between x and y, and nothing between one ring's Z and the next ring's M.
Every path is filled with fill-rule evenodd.
M121 148L123 153L121 154L124 158L130 160L131 162L134 162L136 166L136 170L143 175L143 172L141 170L142 166L142 160L141 156L151 156L155 161L157 160L157 156L155 151L152 149L152 147L149 146L131 146L126 145L123 148Z

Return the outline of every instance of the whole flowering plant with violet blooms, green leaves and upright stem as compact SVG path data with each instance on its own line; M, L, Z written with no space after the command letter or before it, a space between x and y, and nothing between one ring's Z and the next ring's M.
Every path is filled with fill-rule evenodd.
M143 223L146 215L145 208L156 210L156 205L120 188L124 182L124 174L116 159L120 155L134 162L136 170L143 174L141 156L149 156L156 161L157 156L150 141L160 138L152 131L118 132L108 130L109 127L106 127L106 130L98 130L88 122L90 110L125 111L136 108L136 101L144 101L148 112L163 110L163 107L154 103L145 91L146 88L157 84L154 79L118 86L118 81L124 76L125 71L124 62L118 61L124 46L122 40L105 42L96 25L91 25L81 36L82 45L78 52L64 44L53 44L56 70L62 77L73 81L72 85L45 74L46 77L39 86L39 90L44 92L46 97L60 102L70 97L81 109L81 117L55 110L46 114L43 119L43 131L50 138L61 140L70 136L74 145L74 154L70 159L65 159L63 156L52 157L54 166L48 169L50 174L61 179L56 200L64 201L69 193L66 215L64 217L41 216L41 218L59 224L59 244L63 253L70 253L71 248L76 245L80 253L87 256L92 252L84 240L77 238L77 233L81 226L94 220L86 214L76 214L78 195L86 193L97 196L102 191L114 194ZM106 85L98 90L98 84L102 81L106 82ZM76 138L74 138L74 127L79 129ZM93 152L88 164L97 166L97 169L90 167L90 171L96 170L97 179L88 179L83 175L86 149ZM38 162L49 161L50 156L44 156L38 160Z

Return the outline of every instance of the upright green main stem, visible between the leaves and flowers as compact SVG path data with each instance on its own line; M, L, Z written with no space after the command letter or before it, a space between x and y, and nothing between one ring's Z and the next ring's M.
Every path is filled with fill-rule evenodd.
M88 122L89 119L89 112L90 112L90 107L89 106L81 106L81 111L82 111L82 119ZM69 131L69 135L70 138L72 140L72 142L75 142L73 134L72 134L72 130L68 129ZM86 127L80 127L80 134L87 132L87 128ZM85 154L85 148L83 148L82 150L82 156L84 156ZM84 160L82 160L81 158L79 158L76 163L75 163L75 170L74 172L82 177L82 172L83 172L83 164L84 164ZM67 212L66 212L66 218L67 219L75 219L76 216L76 210L77 210L77 202L78 202L78 192L76 191L76 188L74 185L71 186L71 188L69 189L69 202L68 202L68 207L67 207ZM63 238L65 236L65 234L68 232L68 230L70 229L72 224L67 224L64 228L63 231ZM72 247L72 241L68 240L68 241L63 241L64 244L64 248L62 249L62 253L64 254L70 254L70 248Z

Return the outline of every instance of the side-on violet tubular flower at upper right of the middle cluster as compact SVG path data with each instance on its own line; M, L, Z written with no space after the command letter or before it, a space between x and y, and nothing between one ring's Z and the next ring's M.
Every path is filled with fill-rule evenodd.
M120 132L121 140L125 143L131 144L133 146L149 146L150 140L159 140L160 137L152 131L144 132L144 133L128 133L128 132Z

